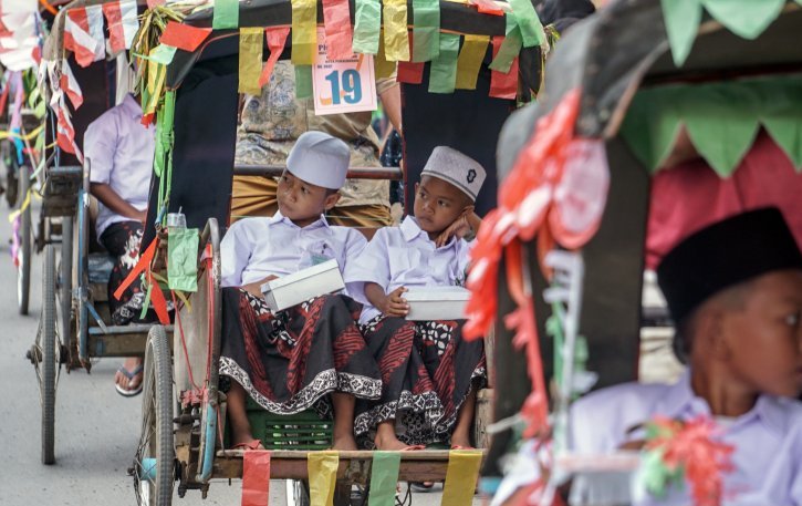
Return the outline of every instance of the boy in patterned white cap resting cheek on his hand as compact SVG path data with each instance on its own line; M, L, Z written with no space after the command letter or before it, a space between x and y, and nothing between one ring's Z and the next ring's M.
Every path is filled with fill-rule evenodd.
M473 203L485 182L476 161L446 146L431 153L415 186L415 215L379 229L345 269L360 323L382 371L382 399L357 402L356 434L375 430L379 450L435 442L470 446L476 391L486 380L482 341L464 341L464 320L407 321L408 287L461 286L481 220ZM396 419L400 420L396 434ZM368 437L369 438L369 437Z

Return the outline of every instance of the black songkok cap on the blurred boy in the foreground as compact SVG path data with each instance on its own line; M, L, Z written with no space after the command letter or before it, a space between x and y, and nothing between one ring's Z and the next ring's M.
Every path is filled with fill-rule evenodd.
M657 267L657 282L679 324L719 291L760 275L802 269L802 254L777 207L750 210L683 240Z

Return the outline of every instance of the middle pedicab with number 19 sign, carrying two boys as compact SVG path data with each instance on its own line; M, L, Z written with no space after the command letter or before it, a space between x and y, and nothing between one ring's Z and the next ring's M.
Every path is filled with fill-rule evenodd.
M310 6L314 7L314 3ZM542 51L539 44L530 44L520 52L520 75L518 68L510 70L513 62L518 65L520 40L517 45L514 40L511 42L514 54L509 49L504 50L510 59L506 72L501 71L497 75L496 71L487 66L493 54L488 51L490 38L499 38L497 49L502 44L504 39L501 37L506 33L507 23L511 22L511 13L508 13L506 21L503 10L480 13L476 6L447 1L435 2L434 6L439 9L439 30L434 30L441 32L441 38L448 41L447 48L450 49L446 58L450 59L449 63L440 61L405 65L408 62L403 62L399 68L399 73L407 72L406 80L399 78L405 101L406 156L403 177L407 187L419 176L428 153L437 144L464 149L487 167L493 167L490 146L501 123L515 106L512 99L518 95L519 83L523 83L527 92L537 91L540 84ZM347 3L343 2L341 9L346 7ZM497 9L487 3L483 8ZM225 444L226 395L220 391L218 373L222 331L220 240L230 214L232 175L278 176L284 167L233 165L239 106L237 92L238 84L241 85L244 79L238 75L238 60L242 54L264 51L262 33L265 28L269 29L270 41L270 29L290 25L294 10L294 3L291 6L285 0L241 3L239 29L236 23L230 29L212 28L216 23L215 13L201 10L188 16L183 22L185 33L189 32L196 39L191 47L169 48L164 39L163 44L157 45L156 34L148 38L150 45L147 51L138 51L150 58L162 58L167 53L168 58L164 61L169 62L166 63L166 71L158 65L148 70L153 72L148 76L152 82L165 79L166 92L156 111L159 144L154 168L157 177L152 186L147 229L143 240L143 251L147 251L143 254L144 262L149 264L152 275L146 276L152 276L154 282L162 280L164 285L164 280L167 280L169 283L169 266L173 261L179 261L170 260L169 257L170 231L169 225L164 225L166 216L181 213L188 229L201 230L197 246L197 275L194 276L197 279L197 291L185 293L186 302L176 301L178 309L171 341L173 353L170 340L160 327L153 328L147 340L142 436L131 469L140 504L171 504L175 482L178 482L180 497L189 489L200 489L206 496L211 479L243 476L244 452L227 450ZM534 14L534 11L531 12ZM322 14L323 9L319 6L316 22L314 17L306 18L312 30L317 24L325 24ZM512 24L517 25L514 21ZM244 39L240 30L249 28L257 33L257 47L248 47L246 51L240 45ZM378 30L377 27L374 29ZM388 29L385 24L385 30ZM404 23L402 31L406 33L406 30ZM360 21L355 31L360 32ZM515 32L515 29L512 31ZM450 90L445 94L429 93L429 90L436 91L437 86L442 85L442 81L438 81L440 78L429 78L430 72L442 72L444 64L446 73L456 71L464 35L476 35L469 39L479 40L478 51L473 47L472 72L466 72L471 74L473 84L454 92L451 82ZM515 38L515 33L512 33L512 38ZM288 37L285 42L271 42L264 53L270 53L271 60L290 58L291 41L292 38ZM184 44L175 39L173 43ZM379 54L376 58L377 66L384 63L382 60ZM435 70L430 71L430 68ZM410 73L412 79L408 76ZM455 79L455 74L451 74L451 79ZM147 93L153 93L155 99L146 97L144 103L153 103L153 109L156 109L159 92L152 89ZM489 96L491 93L503 99ZM147 114L148 105L145 105L145 111ZM492 174L492 171L489 173ZM398 168L351 167L348 177L400 178L402 172ZM204 182L202 188L198 182ZM483 188L478 203L480 210L493 205L493 192L492 183ZM309 413L275 416L261 409L249 412L249 417L254 436L262 440L265 448L271 450L270 477L293 481L288 497L308 502L308 457L316 455L313 451L331 446L331 421L320 420ZM478 425L483 426L481 423ZM327 475L340 485L336 492L338 504L347 504L351 484L371 487L373 456L372 452L338 452L331 469L333 475ZM393 490L397 481L442 482L449 456L448 451L404 453L396 471L397 476L392 477ZM477 465L478 462L471 461ZM459 485L455 481L446 487L460 486L472 496L472 486ZM369 496L371 493L366 494Z

